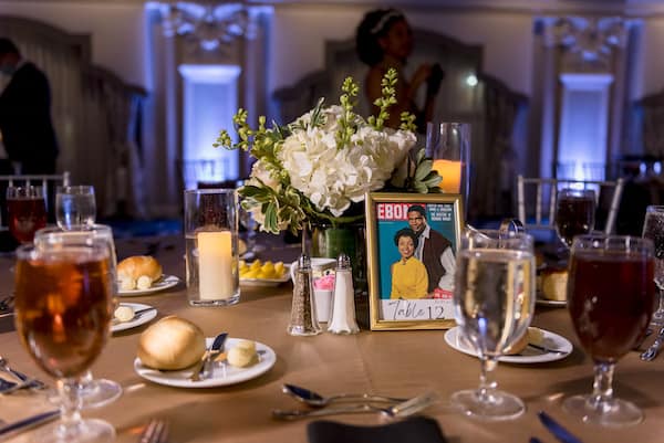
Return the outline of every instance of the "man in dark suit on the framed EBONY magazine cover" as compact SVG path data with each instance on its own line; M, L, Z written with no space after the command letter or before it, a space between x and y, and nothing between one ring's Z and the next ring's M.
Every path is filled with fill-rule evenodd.
M426 210L421 204L408 208L408 225L417 234L415 257L426 267L429 296L434 298L450 296L456 268L452 242L428 225Z

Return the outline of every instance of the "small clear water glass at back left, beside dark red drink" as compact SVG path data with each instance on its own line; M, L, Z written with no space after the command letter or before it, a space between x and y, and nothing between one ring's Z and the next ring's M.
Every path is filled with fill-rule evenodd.
M55 192L55 221L65 231L84 230L94 224L96 202L94 187L61 186Z

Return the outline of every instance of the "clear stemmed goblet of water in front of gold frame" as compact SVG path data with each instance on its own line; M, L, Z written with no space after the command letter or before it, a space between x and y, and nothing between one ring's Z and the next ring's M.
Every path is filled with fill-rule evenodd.
M508 420L526 407L489 379L505 349L523 334L535 308L532 236L504 231L466 231L457 255L455 318L480 360L479 388L455 392L465 415Z

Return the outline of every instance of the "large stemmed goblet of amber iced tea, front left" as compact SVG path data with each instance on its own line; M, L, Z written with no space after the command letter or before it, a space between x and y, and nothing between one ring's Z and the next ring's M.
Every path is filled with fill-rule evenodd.
M61 420L41 431L40 443L111 442L105 421L83 420L79 377L101 354L111 327L113 275L103 240L17 250L15 324L32 359L58 379Z

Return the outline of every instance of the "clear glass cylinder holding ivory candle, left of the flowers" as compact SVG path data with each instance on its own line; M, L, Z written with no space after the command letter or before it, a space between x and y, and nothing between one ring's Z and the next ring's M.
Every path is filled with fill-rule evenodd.
M187 297L193 306L240 299L238 203L232 189L185 191Z

